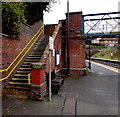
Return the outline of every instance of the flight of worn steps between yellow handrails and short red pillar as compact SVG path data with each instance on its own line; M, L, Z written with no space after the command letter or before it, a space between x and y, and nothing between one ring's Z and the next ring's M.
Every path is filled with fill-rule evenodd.
M39 62L45 48L48 44L48 36L43 36L39 39L28 56L22 63L19 70L5 86L3 94L7 96L15 96L19 98L29 98L31 92L31 85L28 84L28 74L31 73L31 63Z

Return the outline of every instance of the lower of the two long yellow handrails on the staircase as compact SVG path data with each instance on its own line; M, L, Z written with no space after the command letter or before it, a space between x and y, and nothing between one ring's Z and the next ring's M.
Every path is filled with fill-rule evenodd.
M11 74L12 72L15 70L15 68L18 66L18 64L22 61L22 59L25 57L25 55L28 53L28 51L31 49L31 47L33 46L33 44L36 42L36 40L39 38L39 36L41 35L41 33L43 32L43 30L40 32L40 34L36 37L36 39L34 40L34 42L31 44L31 46L28 48L28 50L24 53L24 55L21 57L21 59L18 61L18 63L14 66L14 68L11 70L11 72L7 75L7 77L0 79L0 81L6 80Z

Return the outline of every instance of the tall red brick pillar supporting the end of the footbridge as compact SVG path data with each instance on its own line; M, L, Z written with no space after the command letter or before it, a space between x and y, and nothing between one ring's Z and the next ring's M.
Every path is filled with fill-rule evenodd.
M84 75L85 71L83 69L85 67L85 40L82 39L82 12L74 12L70 13L70 74L75 76Z

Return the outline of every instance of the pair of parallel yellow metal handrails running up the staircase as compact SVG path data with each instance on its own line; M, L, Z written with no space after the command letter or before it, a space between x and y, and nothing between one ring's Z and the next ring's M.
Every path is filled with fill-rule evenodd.
M13 62L4 70L0 70L0 72L6 72L8 71L11 66L16 62L16 60L22 55L22 53L25 51L25 49L28 47L28 49L26 50L26 52L22 55L22 57L20 58L20 60L16 63L16 65L13 67L13 69L10 71L10 73L5 77L0 79L0 81L6 80L15 70L15 68L19 65L19 63L23 60L23 58L25 57L25 55L29 52L29 50L31 49L31 47L34 45L34 43L37 41L37 39L39 38L39 36L42 34L42 32L44 31L44 25L37 31L37 33L32 37L32 39L28 42L28 44L22 49L22 51L17 55L17 57L13 60ZM36 37L36 38L35 38ZM33 42L32 42L33 41ZM32 42L32 44L31 44Z

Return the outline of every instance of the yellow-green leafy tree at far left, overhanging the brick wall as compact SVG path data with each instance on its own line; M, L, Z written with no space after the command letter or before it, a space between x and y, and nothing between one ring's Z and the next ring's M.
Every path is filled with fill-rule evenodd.
M2 3L2 32L19 39L20 22L26 22L25 5L22 2Z

